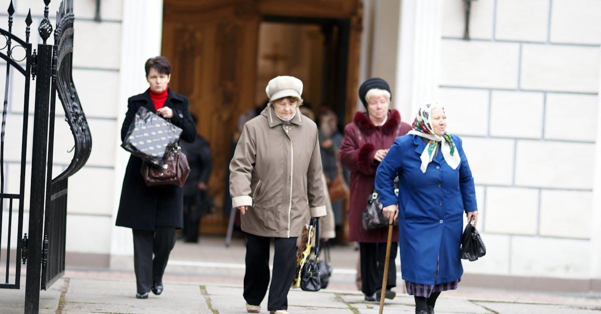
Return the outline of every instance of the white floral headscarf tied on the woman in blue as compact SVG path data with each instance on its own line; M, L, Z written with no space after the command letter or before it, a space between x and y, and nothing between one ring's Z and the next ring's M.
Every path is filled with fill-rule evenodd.
M432 120L430 120L432 109L434 108L441 108L443 112L445 110L444 104L441 102L427 103L426 105L422 106L419 108L415 120L413 120L413 129L408 133L430 140L420 157L421 167L419 167L419 169L422 173L426 173L428 164L432 162L432 159L434 158L434 152L439 143L441 143L442 156L445 158L445 161L451 168L457 169L461 163L461 158L457 152L457 147L455 146L453 138L451 138L451 134L449 132L445 132L442 134L442 137L439 137L434 133L434 129L432 128Z

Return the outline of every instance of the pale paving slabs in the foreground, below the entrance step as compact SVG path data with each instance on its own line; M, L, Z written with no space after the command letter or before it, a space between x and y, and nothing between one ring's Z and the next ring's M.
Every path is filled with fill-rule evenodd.
M162 295L138 300L133 273L70 270L49 291L41 292L40 313L246 313L241 284L207 284L196 282L198 279L167 274ZM0 313L23 313L24 289L1 292ZM261 304L261 313L267 313L266 303ZM373 314L378 304L365 302L358 291L291 289L288 310L295 314ZM413 297L399 293L394 300L386 300L384 313L414 313ZM441 294L436 313L601 313L601 298L460 286Z

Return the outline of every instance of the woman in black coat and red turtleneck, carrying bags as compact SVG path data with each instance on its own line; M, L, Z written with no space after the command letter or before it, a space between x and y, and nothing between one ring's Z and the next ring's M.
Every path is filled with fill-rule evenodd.
M180 140L194 141L197 131L188 110L188 98L168 87L171 79L169 61L165 57L150 58L146 61L145 71L150 87L127 100L121 141L141 106L182 128ZM115 224L133 231L136 298L148 298L150 291L156 295L163 291L163 272L175 245L175 228L181 229L183 225L183 192L178 186L146 186L141 167L142 159L130 156Z

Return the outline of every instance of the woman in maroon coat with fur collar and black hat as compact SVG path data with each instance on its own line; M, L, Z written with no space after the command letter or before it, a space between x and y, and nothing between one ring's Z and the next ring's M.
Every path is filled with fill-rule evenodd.
M386 258L388 228L365 230L362 214L367 197L374 188L377 166L386 156L394 139L411 129L401 122L401 116L390 106L390 87L383 79L371 78L359 87L359 99L367 112L356 112L352 123L344 128L344 139L340 147L340 161L350 171L349 240L359 242L361 260L361 291L365 301L379 301L382 274ZM392 233L392 247L398 242L398 230ZM396 286L397 269L394 259L397 250L390 254L388 282L385 297L392 299Z

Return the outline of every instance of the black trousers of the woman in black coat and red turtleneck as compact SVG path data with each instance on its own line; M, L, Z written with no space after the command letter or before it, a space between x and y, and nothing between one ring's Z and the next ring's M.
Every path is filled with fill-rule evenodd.
M163 273L169 253L175 246L175 228L157 227L156 230L133 229L133 269L138 293L149 292L153 284L163 284ZM154 254L154 258L153 258Z

